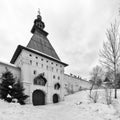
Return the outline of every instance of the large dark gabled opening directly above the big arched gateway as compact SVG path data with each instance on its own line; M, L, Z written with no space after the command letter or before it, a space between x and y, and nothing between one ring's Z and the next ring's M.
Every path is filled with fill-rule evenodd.
M46 78L44 77L44 74L39 74L37 77L35 77L34 79L34 84L35 85L42 85L45 86L46 85Z

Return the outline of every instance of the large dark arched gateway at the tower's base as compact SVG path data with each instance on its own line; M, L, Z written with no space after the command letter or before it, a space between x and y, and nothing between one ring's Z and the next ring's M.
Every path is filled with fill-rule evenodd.
M45 93L42 90L35 90L32 94L33 105L45 105Z

